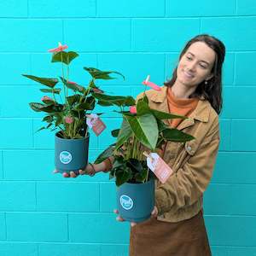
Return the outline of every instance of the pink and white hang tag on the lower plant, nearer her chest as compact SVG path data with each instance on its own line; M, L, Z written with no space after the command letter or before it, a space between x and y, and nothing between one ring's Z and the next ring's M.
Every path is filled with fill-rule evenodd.
M168 177L173 173L172 168L157 153L147 154L147 166L159 178L161 183L166 183Z

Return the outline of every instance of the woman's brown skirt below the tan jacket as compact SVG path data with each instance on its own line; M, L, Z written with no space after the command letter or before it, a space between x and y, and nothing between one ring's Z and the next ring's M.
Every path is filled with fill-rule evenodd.
M131 228L130 256L211 256L202 211L177 223L150 218Z

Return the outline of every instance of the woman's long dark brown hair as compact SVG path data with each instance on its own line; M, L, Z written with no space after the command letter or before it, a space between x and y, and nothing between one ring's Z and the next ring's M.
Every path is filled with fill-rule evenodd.
M222 66L225 56L225 46L217 38L214 38L207 34L201 34L189 40L189 42L185 45L184 49L179 55L179 60L185 54L187 49L189 49L189 46L191 44L194 44L195 42L203 42L207 44L210 48L214 50L214 52L216 53L216 57L211 71L211 73L213 73L212 78L207 80L207 84L205 84L205 81L202 81L201 84L198 84L195 92L189 97L200 98L201 96L203 96L207 101L211 103L212 108L214 108L215 111L219 114L222 108ZM177 67L172 73L172 79L164 84L166 86L172 87L176 79Z

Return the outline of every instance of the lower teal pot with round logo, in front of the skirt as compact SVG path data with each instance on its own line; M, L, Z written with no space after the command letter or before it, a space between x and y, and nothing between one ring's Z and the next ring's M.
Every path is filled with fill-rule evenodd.
M117 187L119 215L127 221L143 222L154 209L154 179L147 183L124 183Z

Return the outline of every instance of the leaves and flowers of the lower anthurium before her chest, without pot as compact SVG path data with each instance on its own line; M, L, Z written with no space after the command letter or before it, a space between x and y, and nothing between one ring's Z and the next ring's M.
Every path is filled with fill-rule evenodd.
M154 90L160 90L153 84ZM112 103L120 107L119 114L123 118L120 129L112 131L116 137L116 143L110 145L100 154L96 163L113 156L113 168L110 178L116 178L116 185L123 183L145 183L150 177L154 177L153 172L148 172L146 157L143 152L160 152L167 141L185 143L194 139L189 134L171 128L166 124L166 119L186 119L181 115L160 112L148 106L148 97L143 94L143 98L137 100L136 105L129 100L112 102L108 97L95 94L101 102ZM131 101L131 102L130 102ZM125 111L122 103L131 103L130 110ZM126 104L127 105L127 104Z

